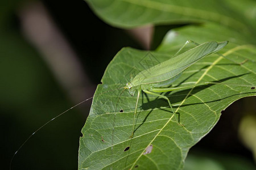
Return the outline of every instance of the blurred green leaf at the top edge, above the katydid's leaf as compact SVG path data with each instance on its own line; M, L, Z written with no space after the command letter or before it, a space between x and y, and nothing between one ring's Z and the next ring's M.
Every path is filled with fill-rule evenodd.
M255 29L253 0L85 0L105 22L129 28L145 24L215 22L249 36Z

